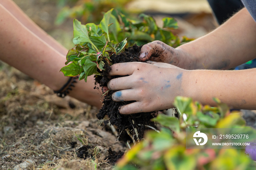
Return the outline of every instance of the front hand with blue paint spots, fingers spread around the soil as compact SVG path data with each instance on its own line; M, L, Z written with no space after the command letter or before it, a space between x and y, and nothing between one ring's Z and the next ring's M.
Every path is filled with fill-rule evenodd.
M119 90L112 94L114 101L136 101L119 108L122 114L157 111L172 108L174 97L185 93L188 74L167 63L117 63L110 76L125 77L110 80L108 88Z

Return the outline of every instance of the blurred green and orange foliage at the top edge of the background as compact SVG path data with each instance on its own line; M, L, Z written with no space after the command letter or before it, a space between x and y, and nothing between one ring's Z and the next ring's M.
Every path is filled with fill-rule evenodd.
M67 18L76 18L81 23L93 22L98 24L102 19L102 13L112 8L119 12L128 14L125 10L132 0L59 0L58 6L61 9L57 15L56 24L62 24Z

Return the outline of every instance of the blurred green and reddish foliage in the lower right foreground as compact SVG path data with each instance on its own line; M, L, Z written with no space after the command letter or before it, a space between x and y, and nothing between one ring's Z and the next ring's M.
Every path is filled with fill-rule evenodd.
M250 170L255 162L243 149L186 149L186 128L249 128L236 113L230 113L218 99L217 108L203 106L191 98L177 96L174 105L179 118L160 114L153 121L161 124L160 132L149 131L145 140L133 146L117 163L117 170ZM197 131L197 130L196 130Z

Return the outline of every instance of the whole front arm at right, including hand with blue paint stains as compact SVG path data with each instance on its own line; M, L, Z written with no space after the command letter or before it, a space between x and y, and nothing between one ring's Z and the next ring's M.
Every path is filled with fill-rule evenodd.
M192 97L215 106L213 97L231 108L256 109L256 69L185 70L167 63L119 63L111 76L129 75L109 81L114 101L136 101L120 108L120 113L151 112L173 107L176 96Z

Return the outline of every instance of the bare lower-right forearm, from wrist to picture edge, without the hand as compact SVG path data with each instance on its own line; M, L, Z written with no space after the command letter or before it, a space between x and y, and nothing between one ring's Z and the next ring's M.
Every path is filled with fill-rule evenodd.
M231 108L256 109L256 69L190 70L184 94L203 104L215 106L213 97Z

